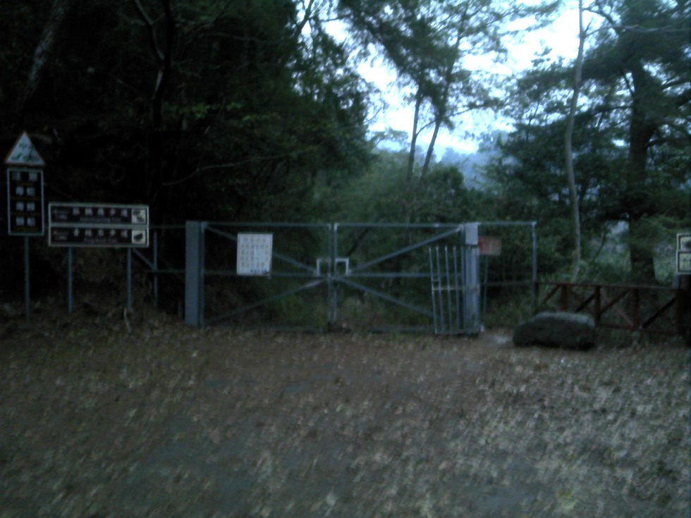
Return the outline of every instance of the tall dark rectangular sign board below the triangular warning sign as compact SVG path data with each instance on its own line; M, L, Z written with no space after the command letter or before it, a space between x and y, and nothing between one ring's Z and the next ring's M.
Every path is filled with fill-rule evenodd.
M43 171L7 169L7 231L9 235L44 235Z

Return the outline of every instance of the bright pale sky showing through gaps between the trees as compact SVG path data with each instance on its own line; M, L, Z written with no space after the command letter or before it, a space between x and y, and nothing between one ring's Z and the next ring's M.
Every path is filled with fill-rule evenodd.
M521 28L520 25L512 28ZM551 51L546 58L556 60L560 57L572 60L578 51L578 8L577 1L570 0L558 15L552 25L542 30L525 32L522 36L510 44L510 51L506 64L498 66L491 61L482 59L476 63L466 63L467 66L477 68L491 67L494 72L511 75L515 71L530 68L532 59L536 54L542 54L544 49ZM367 63L358 66L358 70L365 80L371 82L384 92L383 100L388 108L379 111L373 120L371 129L373 132L384 131L388 128L400 130L408 134L410 142L410 130L412 128L412 106L403 99L405 91L401 90L396 80L396 73L388 68L381 59L374 58ZM472 153L477 151L478 137L494 129L509 129L508 121L503 121L489 113L467 115L455 125L455 130L449 132L441 130L437 137L435 149L437 156L444 154L447 147L459 153ZM431 131L422 133L418 142L427 146L431 137Z

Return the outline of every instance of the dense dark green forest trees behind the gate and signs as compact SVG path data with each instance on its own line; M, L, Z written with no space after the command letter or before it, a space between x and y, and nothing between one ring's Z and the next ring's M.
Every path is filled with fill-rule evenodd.
M155 225L537 221L541 276L570 271L576 240L580 279L668 283L675 235L691 228L688 1L586 1L573 61L545 49L514 77L472 66L501 63L512 27L562 8L4 1L0 150L25 130L47 163L47 202L143 203ZM370 129L385 108L357 66L373 56L409 92L403 137ZM481 166L441 161L439 131L472 132L459 121L475 111L512 129L484 135ZM392 138L398 149L379 145ZM3 204L4 229L6 218ZM3 230L0 247L11 300L22 240ZM54 278L48 256L32 240L39 285Z

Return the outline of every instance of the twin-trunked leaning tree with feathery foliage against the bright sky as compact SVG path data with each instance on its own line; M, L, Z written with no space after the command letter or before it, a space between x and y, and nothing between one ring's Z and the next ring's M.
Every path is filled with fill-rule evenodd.
M527 7L484 0L361 1L341 0L339 12L348 20L353 35L365 49L377 51L410 87L413 106L405 184L415 218L415 198L420 185L413 178L417 138L425 128L432 137L420 169L429 173L440 128L453 129L455 119L466 111L496 109L501 101L492 93L498 82L491 74L468 68L467 56L501 61L506 53L502 38L508 22L525 16L540 18L556 4Z

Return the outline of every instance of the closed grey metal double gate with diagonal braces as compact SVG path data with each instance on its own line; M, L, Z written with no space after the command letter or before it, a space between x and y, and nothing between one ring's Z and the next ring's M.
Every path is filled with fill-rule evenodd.
M300 330L478 333L477 226L189 221L185 322L192 326L226 323ZM238 241L245 233L271 236L267 271L250 276L240 273ZM440 271L433 264L431 247L454 250L460 261L453 262L460 269L454 278L460 303L452 308L458 315L453 323L446 316L441 320L441 288L434 288L435 282L439 285L448 278L450 270ZM448 297L444 304L448 312Z

